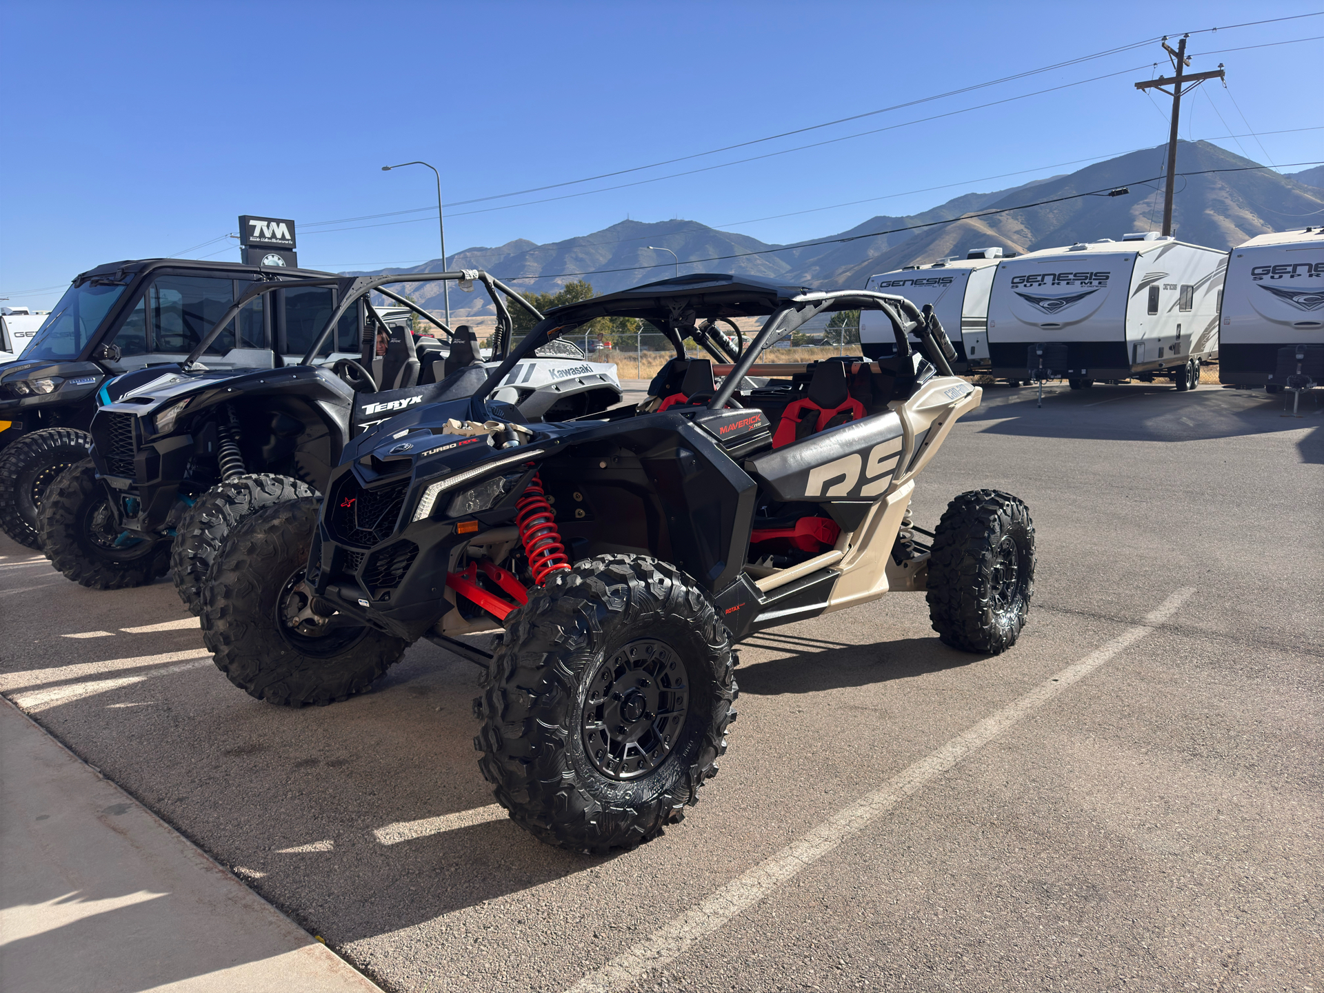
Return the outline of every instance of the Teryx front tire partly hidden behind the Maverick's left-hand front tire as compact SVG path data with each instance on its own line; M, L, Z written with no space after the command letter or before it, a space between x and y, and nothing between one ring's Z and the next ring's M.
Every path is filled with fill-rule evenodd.
M217 483L199 496L175 531L169 556L175 591L189 612L201 612L212 561L240 522L273 503L316 495L311 486L287 475L252 473Z

